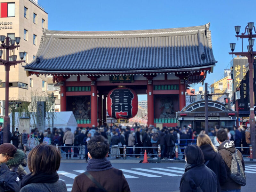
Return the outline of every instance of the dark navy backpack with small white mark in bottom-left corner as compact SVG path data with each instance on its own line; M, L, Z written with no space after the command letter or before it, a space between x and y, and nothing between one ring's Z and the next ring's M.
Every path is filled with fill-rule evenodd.
M16 172L11 172L6 164L0 167L0 190L4 192L19 192L20 178Z

